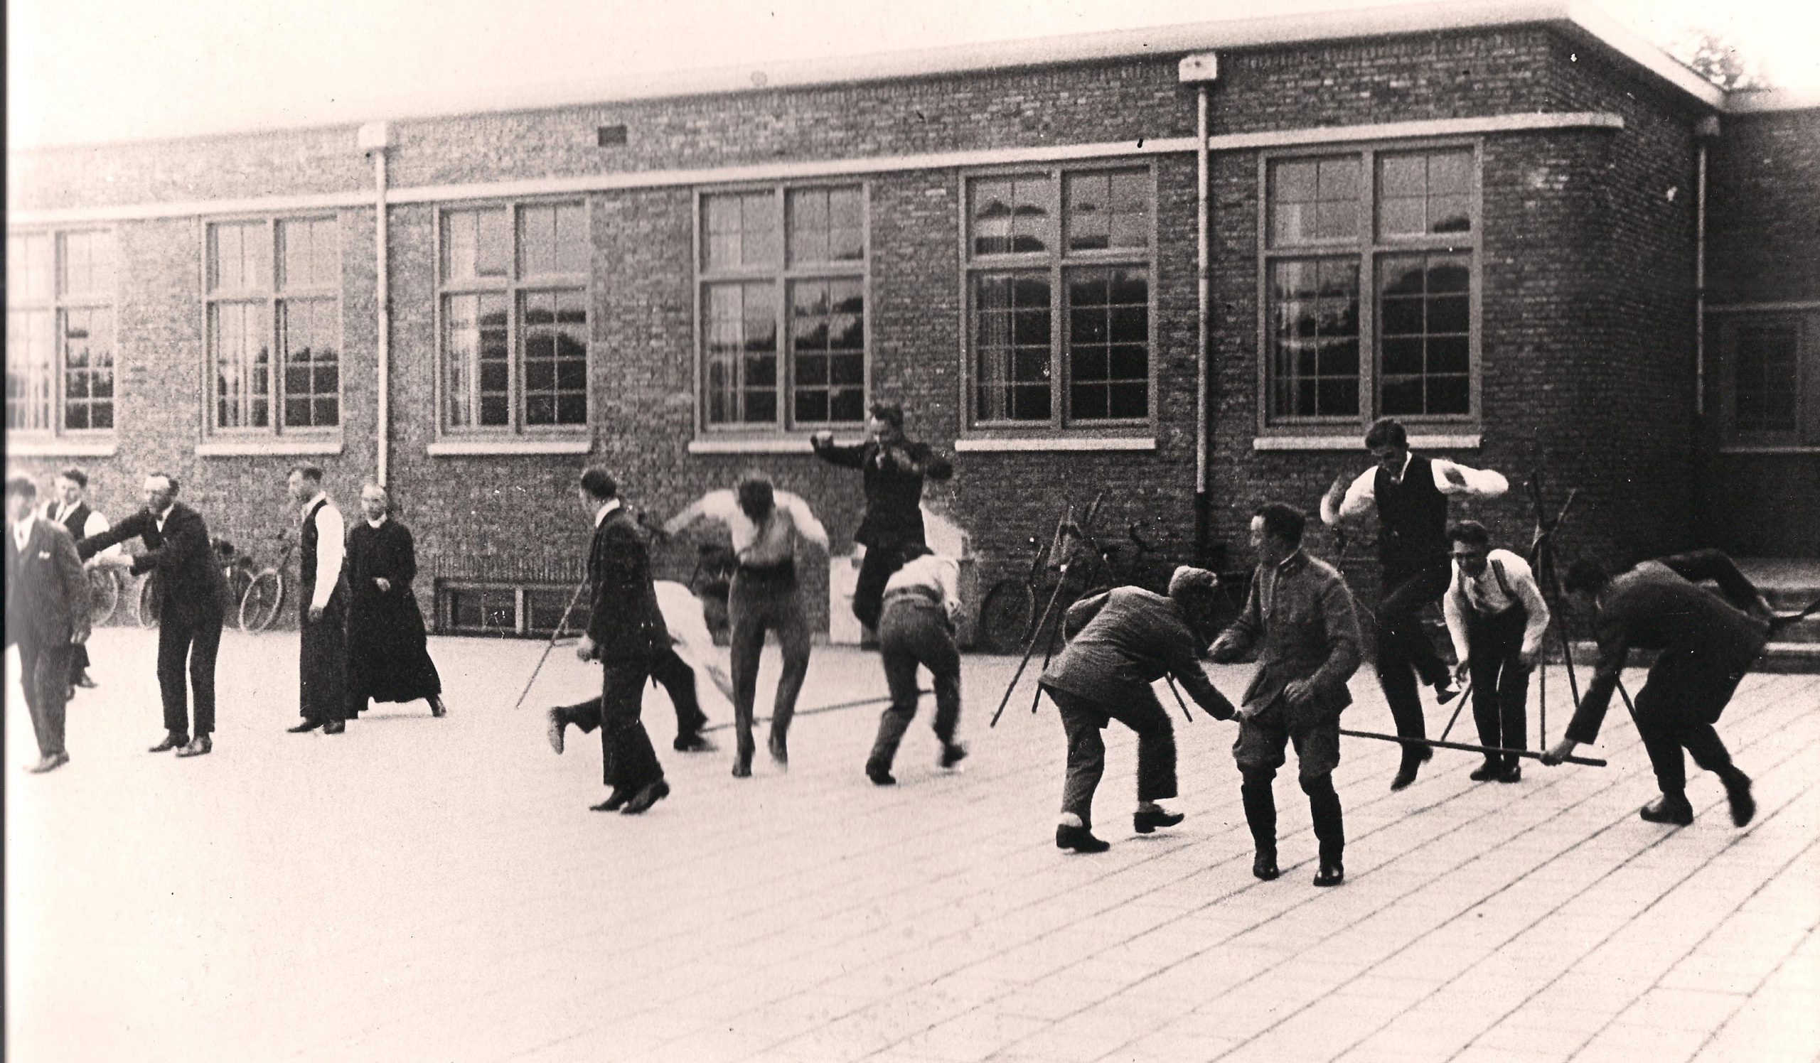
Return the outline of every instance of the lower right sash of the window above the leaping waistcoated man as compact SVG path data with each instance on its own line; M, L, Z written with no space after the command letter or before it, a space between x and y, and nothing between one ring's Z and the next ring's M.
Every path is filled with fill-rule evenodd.
M1378 260L1383 413L1472 411L1471 277L1465 255L1383 255Z

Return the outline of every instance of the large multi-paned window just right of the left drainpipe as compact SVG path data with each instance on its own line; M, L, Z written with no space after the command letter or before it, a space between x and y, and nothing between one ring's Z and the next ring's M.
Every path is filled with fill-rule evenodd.
M442 431L588 426L588 208L442 211Z

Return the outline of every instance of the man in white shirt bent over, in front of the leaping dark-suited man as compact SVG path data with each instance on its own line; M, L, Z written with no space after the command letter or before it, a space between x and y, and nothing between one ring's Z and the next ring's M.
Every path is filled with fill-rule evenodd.
M885 606L879 615L879 653L885 657L885 683L892 704L879 717L879 735L866 757L866 777L877 786L892 786L892 761L897 743L915 715L917 664L935 679L935 737L941 741L941 766L952 768L966 755L956 741L961 723L961 652L954 646L954 621L961 613L961 566L952 557L935 557L928 546L910 542L892 548L901 568L885 581Z

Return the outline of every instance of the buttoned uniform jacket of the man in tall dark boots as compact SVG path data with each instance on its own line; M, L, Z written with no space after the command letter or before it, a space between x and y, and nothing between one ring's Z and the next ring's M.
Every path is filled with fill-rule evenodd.
M1360 666L1360 623L1332 564L1298 550L1274 570L1258 566L1245 612L1214 643L1212 657L1238 659L1259 639L1247 710L1269 708L1292 679L1309 681L1318 721L1340 719L1352 704L1347 679Z

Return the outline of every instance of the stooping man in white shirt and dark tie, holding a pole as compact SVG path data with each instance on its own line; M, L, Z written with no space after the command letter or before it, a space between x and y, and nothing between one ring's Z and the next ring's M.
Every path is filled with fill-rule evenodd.
M1529 748L1529 673L1542 659L1549 630L1549 602L1536 586L1529 562L1509 550L1492 550L1491 533L1478 521L1447 528L1452 541L1452 581L1441 608L1454 639L1456 677L1472 677L1472 721L1480 744L1503 750ZM1523 777L1522 757L1485 754L1472 772L1474 783Z

